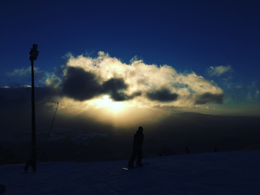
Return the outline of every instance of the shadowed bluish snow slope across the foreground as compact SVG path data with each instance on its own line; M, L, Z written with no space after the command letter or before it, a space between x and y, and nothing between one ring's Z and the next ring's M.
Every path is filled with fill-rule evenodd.
M124 170L128 160L1 165L8 194L260 194L260 151L197 153L145 158L149 165Z

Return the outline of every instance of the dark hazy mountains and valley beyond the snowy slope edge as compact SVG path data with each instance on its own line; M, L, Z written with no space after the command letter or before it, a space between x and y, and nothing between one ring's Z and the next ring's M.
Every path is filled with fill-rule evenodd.
M192 112L169 113L166 118L154 117L148 122L124 127L91 123L90 120L75 129L55 124L50 132L46 154L49 160L125 160L131 156L133 135L138 126L144 127L144 158L156 157L159 152L163 155L185 154L185 146L190 153L202 153L213 152L215 147L219 151L258 148L256 145L260 143L258 117ZM47 128L36 127L38 159L43 153L48 132ZM1 164L21 163L29 158L30 128L3 130L0 137Z

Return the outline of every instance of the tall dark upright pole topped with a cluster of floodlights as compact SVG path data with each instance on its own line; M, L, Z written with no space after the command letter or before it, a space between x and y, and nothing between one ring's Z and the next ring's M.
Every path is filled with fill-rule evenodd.
M32 72L32 139L31 139L31 159L36 163L36 133L35 133L35 100L34 100L34 60L37 60L37 56L39 55L39 51L37 51L38 46L33 44L33 47L30 51L30 61L31 61L31 72Z

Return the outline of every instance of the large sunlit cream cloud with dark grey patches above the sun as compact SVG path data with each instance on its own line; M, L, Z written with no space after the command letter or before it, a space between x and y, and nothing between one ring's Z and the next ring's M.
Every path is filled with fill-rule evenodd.
M130 62L122 63L102 51L96 58L70 55L63 66L62 94L79 101L109 95L113 101L132 100L139 106L163 103L191 107L223 102L222 89L193 72L177 73L170 66L145 64L142 60Z

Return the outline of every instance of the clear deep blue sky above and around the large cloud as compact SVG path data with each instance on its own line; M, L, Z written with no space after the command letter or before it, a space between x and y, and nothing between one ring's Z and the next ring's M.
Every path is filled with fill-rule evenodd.
M259 80L259 1L1 1L0 7L0 86L30 84L6 72L30 66L32 44L40 51L35 66L48 72L68 52L105 51L127 64L137 55L209 80L208 67L228 64L233 82Z

